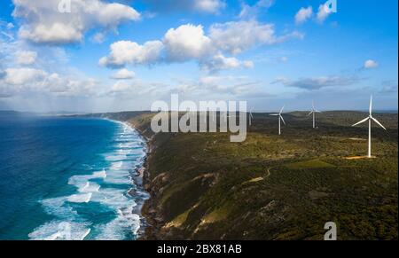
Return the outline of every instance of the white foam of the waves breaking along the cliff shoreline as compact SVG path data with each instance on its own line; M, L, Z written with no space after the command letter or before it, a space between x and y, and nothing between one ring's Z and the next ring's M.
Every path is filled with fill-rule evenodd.
M109 168L94 172L89 175L71 176L68 184L74 185L76 193L59 198L43 199L45 211L57 217L49 223L44 223L29 234L32 239L66 239L65 231L59 227L63 223L69 223L71 228L70 238L82 240L90 235L96 239L126 239L129 235L136 235L140 228L140 216L133 213L137 202L134 198L143 199L141 192L132 198L126 189L120 189L122 184L134 184L130 177L130 171L135 168L142 157L145 146L141 137L134 129L121 123L121 131L116 136L113 152L103 153L105 160L109 161ZM115 143L114 142L114 143ZM95 166L86 168L91 169ZM117 188L111 188L108 184L119 184ZM116 186L115 186L116 187ZM135 186L133 188L136 189ZM76 206L75 204L79 205ZM106 209L114 211L116 218L109 223L87 222L78 214L81 209L93 208L92 204L98 203ZM138 203L141 203L139 200ZM94 206L97 207L97 206ZM99 211L100 212L100 211ZM92 231L90 231L90 228ZM91 232L91 233L90 233ZM68 238L69 238L68 237Z

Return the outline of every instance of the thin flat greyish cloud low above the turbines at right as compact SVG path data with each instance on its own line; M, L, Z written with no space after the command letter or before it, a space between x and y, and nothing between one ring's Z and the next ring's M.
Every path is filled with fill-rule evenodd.
M320 90L325 87L333 86L348 86L358 82L356 77L341 77L341 76L319 76L311 78L301 78L296 81L291 81L285 77L278 77L274 83L283 83L285 86L299 88L303 90Z

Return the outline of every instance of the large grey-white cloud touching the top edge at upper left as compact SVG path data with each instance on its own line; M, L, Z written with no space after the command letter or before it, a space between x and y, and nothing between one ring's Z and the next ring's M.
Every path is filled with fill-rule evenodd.
M59 0L13 0L12 15L20 19L20 37L34 43L78 43L94 28L116 29L121 22L139 20L132 7L101 0L71 0L71 13L59 12Z

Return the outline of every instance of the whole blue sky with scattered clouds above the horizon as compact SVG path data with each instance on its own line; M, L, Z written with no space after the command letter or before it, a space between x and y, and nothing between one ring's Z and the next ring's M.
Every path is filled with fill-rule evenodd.
M0 110L397 110L397 4L0 0Z

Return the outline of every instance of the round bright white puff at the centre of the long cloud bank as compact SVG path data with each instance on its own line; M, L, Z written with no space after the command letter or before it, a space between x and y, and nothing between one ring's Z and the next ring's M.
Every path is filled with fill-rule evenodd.
M201 25L192 24L170 28L166 33L163 43L168 52L168 59L175 61L186 61L190 59L201 59L209 54L211 40L204 35Z

